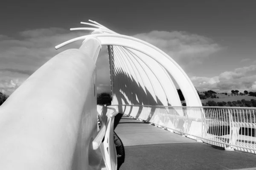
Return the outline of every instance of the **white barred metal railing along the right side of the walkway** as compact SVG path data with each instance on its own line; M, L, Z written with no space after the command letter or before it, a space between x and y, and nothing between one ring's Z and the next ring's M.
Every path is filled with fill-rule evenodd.
M256 153L256 108L111 105L142 119L203 142Z

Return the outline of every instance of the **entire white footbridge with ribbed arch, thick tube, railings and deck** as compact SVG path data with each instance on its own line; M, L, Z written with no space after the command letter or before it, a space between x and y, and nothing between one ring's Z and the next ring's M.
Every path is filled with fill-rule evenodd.
M35 71L0 107L0 169L256 167L256 108L203 107L166 53L89 20L92 34ZM96 105L108 48L112 105ZM181 105L175 82L186 100ZM97 118L99 123L97 122Z

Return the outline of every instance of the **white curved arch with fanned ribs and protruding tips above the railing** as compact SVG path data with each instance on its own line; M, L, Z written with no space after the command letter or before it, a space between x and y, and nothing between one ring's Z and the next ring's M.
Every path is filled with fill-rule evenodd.
M68 40L55 48L89 37L97 38L101 45L113 45L113 105L167 105L168 100L172 106L181 106L170 74L183 92L186 105L202 106L189 77L166 53L148 42L117 34L95 21L89 21L91 23L81 23L96 28L70 30L94 31L93 34Z

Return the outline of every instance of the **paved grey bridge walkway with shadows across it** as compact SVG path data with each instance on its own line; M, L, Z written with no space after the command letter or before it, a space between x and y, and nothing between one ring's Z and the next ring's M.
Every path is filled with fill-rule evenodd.
M115 132L125 149L125 154L118 158L119 162L124 159L120 170L229 170L256 167L256 154L225 151L197 143L121 114L116 116L115 124Z

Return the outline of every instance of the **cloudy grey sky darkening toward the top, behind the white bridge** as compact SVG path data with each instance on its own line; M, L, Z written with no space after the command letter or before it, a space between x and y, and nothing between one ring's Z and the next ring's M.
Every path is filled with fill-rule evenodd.
M0 91L12 94L61 51L55 45L95 20L172 57L199 91L256 91L255 0L4 1L0 10ZM85 26L84 26L85 27ZM98 93L110 91L106 47L96 63Z

